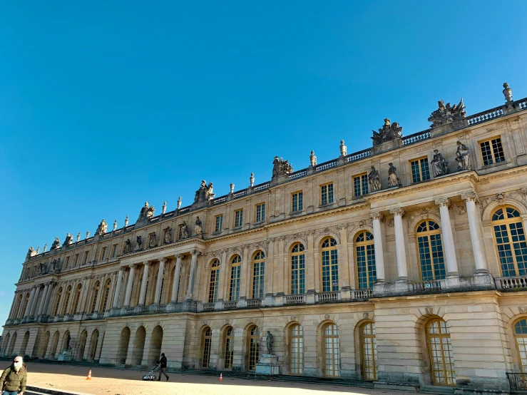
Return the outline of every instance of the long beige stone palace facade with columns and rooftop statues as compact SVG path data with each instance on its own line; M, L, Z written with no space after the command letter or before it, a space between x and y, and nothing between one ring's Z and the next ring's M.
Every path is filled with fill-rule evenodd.
M270 182L203 181L188 207L31 247L1 354L250 373L269 331L283 375L525 383L527 99L504 87L491 110L441 101L428 130L386 119L372 148L276 157Z

